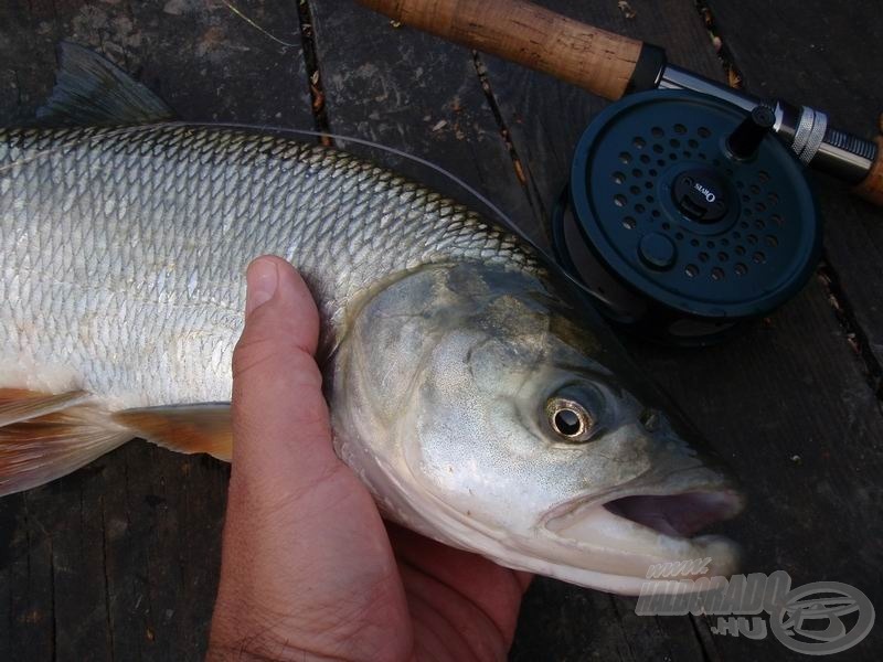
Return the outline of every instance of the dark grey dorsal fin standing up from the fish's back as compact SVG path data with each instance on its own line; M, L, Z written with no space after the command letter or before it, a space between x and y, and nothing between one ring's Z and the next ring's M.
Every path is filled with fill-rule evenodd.
M62 42L55 87L36 117L46 125L124 126L173 118L157 95L94 51Z

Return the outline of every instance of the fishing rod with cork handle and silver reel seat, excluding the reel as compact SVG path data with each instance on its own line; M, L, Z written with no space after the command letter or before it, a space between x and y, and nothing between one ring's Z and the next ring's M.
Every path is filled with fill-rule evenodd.
M781 99L759 99L668 62L664 50L587 25L524 0L357 0L395 21L550 74L618 100L653 89L704 94L746 113L774 114L769 127L804 166L883 205L883 137L837 129L828 116Z

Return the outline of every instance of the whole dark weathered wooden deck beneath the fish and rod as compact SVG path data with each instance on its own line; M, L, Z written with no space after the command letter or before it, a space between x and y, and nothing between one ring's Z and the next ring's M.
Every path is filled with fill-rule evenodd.
M544 0L645 39L722 78L706 30L748 90L807 103L854 131L883 110L876 0ZM428 158L532 233L571 150L605 103L474 56L350 0L8 0L0 122L47 95L54 50L106 53L185 119L330 128ZM518 167L514 166L518 164ZM813 178L826 254L804 292L723 346L629 342L731 461L751 498L722 527L745 569L838 580L883 611L883 213ZM132 442L56 483L0 501L0 659L199 660L217 580L227 467ZM635 601L538 580L513 660L799 659L772 637L715 636L708 619L637 617ZM839 659L877 660L877 624Z

